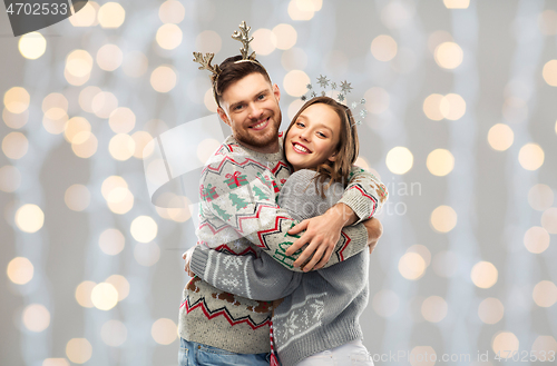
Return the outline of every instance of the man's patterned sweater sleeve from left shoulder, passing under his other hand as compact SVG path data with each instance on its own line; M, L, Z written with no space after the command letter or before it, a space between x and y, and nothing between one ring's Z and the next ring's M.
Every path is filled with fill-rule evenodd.
M301 251L285 254L300 239L287 233L297 221L276 205L273 179L266 167L250 157L226 156L212 161L202 175L201 208L205 218L199 226L208 226L211 230L205 227L197 234L202 241L215 248L231 241L223 241L219 237L223 228L233 228L236 238L245 237L286 268L300 271L293 264ZM353 255L351 251L355 245L360 246L360 250L365 248L368 231L362 225L348 227L342 234L336 233L336 238L333 246L335 255L328 265ZM348 244L351 244L350 248Z

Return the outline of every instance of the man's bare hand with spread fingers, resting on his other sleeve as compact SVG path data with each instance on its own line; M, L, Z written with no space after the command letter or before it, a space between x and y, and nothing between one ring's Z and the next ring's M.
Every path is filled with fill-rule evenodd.
M341 237L342 228L355 222L356 219L358 217L350 207L344 204L336 204L325 214L303 220L289 230L290 235L295 235L302 230L305 230L305 233L290 246L286 255L290 256L305 244L309 244L307 248L294 261L294 267L300 267L309 260L303 267L304 271L323 268L333 254L333 249Z

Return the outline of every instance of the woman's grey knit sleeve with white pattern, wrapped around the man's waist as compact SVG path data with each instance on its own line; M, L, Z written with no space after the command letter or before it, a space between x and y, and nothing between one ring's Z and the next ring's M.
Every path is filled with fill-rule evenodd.
M221 290L262 301L289 296L303 276L267 255L235 256L202 246L192 251L189 270Z

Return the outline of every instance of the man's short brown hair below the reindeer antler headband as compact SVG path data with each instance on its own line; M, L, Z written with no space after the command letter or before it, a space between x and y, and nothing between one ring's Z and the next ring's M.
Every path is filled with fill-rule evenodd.
M213 96L215 97L215 101L218 107L221 107L223 93L226 89L234 82L251 73L258 72L271 83L271 78L268 77L265 68L256 60L242 60L242 55L228 57L218 67L221 68L221 73L218 76L211 76L211 81L213 82Z

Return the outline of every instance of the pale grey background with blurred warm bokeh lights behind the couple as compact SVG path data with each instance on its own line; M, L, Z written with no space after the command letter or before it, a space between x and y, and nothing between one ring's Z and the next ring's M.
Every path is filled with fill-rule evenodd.
M367 100L370 353L557 350L557 2L100 0L20 38L0 16L1 364L176 364L196 198L155 207L144 148L214 113L192 52L236 55L242 20L283 128L320 75Z

